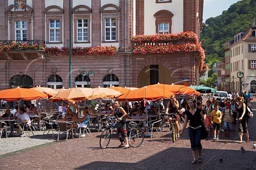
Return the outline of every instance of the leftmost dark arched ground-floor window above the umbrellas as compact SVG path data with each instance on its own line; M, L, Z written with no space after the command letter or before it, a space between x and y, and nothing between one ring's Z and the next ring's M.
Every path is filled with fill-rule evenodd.
M28 75L15 75L11 78L11 88L23 87L31 88L33 87L33 79Z

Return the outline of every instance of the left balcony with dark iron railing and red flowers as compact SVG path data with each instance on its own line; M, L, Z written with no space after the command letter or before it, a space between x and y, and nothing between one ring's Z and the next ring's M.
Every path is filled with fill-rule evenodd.
M0 41L0 60L34 60L44 58L45 41Z

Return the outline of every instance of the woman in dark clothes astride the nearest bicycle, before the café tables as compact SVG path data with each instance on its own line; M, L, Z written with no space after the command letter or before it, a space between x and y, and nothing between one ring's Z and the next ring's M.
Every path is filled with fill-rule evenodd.
M129 143L128 143L127 133L126 133L125 116L127 114L122 107L119 107L118 101L115 101L114 105L115 105L115 109L111 110L111 114L107 115L107 116L109 116L109 117L114 116L114 115L116 116L116 118L117 118L117 124L116 124L117 133L119 134L119 136L125 137L125 146L124 146L123 140L121 140L121 138L120 138L121 144L119 145L119 147L120 148L124 147L126 149L126 148L130 147Z

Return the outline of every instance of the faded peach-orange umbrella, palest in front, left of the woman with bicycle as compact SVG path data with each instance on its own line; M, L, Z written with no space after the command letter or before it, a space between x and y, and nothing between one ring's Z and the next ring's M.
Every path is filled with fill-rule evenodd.
M98 90L95 90L94 88L74 87L52 96L49 99L49 101L54 102L67 100L69 102L74 102L82 100L99 99L104 98L105 96L106 94L101 93Z

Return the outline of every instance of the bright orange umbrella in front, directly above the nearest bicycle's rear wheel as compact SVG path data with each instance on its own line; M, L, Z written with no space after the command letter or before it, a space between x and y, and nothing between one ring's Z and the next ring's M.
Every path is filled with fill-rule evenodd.
M174 93L160 88L141 87L137 90L119 96L120 101L142 101L142 100L159 100L161 98L170 98Z

